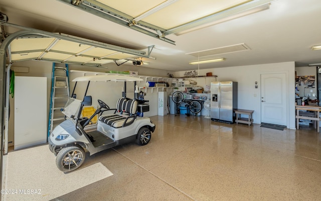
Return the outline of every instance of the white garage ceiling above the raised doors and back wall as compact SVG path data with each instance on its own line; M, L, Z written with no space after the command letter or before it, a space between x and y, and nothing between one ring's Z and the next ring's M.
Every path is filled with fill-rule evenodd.
M140 15L139 9L143 10L143 7L154 1L114 0L101 2L134 16ZM159 2L163 1L157 1L157 4ZM244 1L200 0L196 4L195 1L180 0L175 4L181 5L181 8L182 5L185 5L186 9L164 10L168 13L163 13L158 17L150 16L150 18L153 17L150 22L155 22L155 18L160 18L158 26L168 29L180 24L182 19L188 20L191 12L194 12L195 15L200 15L200 13L202 16L209 15L208 8L213 8L213 3L220 5L222 2L235 4L235 2ZM216 11L213 9L213 13ZM320 11L321 1L319 0L276 0L271 3L269 10L179 36L167 35L166 38L176 42L176 45L172 45L60 1L2 0L0 3L0 12L6 14L9 18L8 22L12 24L48 32L70 34L136 50L147 51L148 46L155 45L151 56L156 59L142 58L143 61L149 62L146 67L170 71L196 69L198 66L190 65L189 62L197 61L198 57L188 53L243 43L250 50L202 57L200 60L219 57L224 57L226 60L200 64L200 69L287 61L295 61L296 66L321 63L321 50L311 50L312 45L321 44ZM174 17L170 18L172 13ZM8 27L5 30L8 33L17 31ZM116 64L104 65L113 66Z

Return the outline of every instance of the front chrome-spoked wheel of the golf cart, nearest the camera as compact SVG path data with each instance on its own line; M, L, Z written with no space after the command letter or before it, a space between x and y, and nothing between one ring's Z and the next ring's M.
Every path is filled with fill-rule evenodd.
M65 147L56 157L56 165L63 172L77 169L85 160L85 151L78 146Z

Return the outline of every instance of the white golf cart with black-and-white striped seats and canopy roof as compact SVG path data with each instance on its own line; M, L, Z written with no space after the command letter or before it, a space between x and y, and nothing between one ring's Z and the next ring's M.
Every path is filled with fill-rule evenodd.
M125 75L95 75L77 77L73 81L140 81L142 79ZM77 85L76 82L76 85ZM76 87L75 85L75 87ZM49 149L55 154L56 165L63 172L77 169L85 160L85 150L90 155L111 147L136 141L146 145L150 141L155 125L147 117L137 116L147 112L149 105L137 99L123 97L118 99L116 109L110 109L107 104L98 99L99 108L90 118L81 118L83 106L91 105L91 96L83 100L70 97L62 113L66 120L59 124L48 138ZM146 107L148 106L148 107ZM97 130L86 132L84 128L91 119L98 115Z

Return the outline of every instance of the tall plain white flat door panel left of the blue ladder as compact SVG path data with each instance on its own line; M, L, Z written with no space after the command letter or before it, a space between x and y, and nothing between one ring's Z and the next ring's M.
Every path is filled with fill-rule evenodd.
M47 142L47 77L15 77L15 150Z

